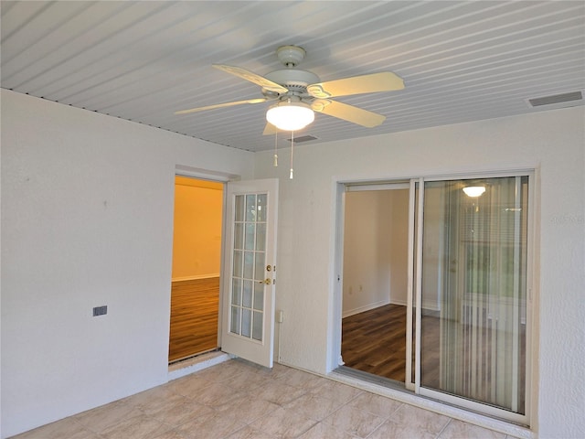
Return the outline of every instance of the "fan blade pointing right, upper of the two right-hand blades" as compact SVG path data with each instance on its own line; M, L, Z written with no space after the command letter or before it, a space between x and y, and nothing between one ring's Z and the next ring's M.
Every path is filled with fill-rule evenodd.
M319 99L349 96L351 94L395 91L404 88L404 80L391 71L353 76L341 80L328 80L307 86L311 96Z

